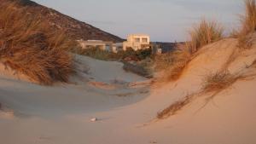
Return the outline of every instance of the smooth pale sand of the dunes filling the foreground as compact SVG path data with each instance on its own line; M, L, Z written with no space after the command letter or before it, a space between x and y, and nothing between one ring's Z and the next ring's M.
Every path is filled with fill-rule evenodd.
M118 62L81 56L73 84L43 87L26 78L17 80L9 72L1 74L0 101L5 108L0 112L0 140L4 144L256 143L253 78L238 81L205 107L207 95L171 118L152 122L161 109L200 90L209 72L225 66L231 73L255 72L245 67L256 59L256 49L236 50L236 39L212 43L201 49L177 82L151 89L130 87L129 83L146 79L124 72ZM236 60L226 65L230 55ZM90 122L94 117L99 121Z

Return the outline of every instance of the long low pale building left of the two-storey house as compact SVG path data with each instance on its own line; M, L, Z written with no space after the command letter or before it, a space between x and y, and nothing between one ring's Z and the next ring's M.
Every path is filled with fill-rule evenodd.
M113 51L113 42L105 42L102 40L78 40L78 42L82 49L98 48Z

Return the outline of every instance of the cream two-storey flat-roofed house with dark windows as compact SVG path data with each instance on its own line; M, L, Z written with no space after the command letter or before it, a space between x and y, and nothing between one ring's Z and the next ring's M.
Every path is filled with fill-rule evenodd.
M123 50L131 48L134 50L148 49L150 47L150 37L146 34L132 34L123 43Z

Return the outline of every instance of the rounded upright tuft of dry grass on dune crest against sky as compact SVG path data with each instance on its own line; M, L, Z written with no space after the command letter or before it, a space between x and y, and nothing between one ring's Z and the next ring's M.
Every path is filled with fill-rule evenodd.
M187 43L187 47L194 54L201 47L214 43L223 38L224 29L218 24L218 22L212 20L201 20L198 26L195 26L192 31L189 32L191 41Z

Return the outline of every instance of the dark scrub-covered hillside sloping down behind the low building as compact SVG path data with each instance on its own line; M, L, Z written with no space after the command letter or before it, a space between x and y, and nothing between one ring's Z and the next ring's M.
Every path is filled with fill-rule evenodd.
M49 9L30 0L0 0L0 4L10 1L17 2L20 6L26 7L28 13L37 14L42 20L46 20L52 28L67 32L67 35L74 39L96 39L113 42L123 41L120 37L114 36L108 32L103 32L85 22L75 20L70 16L61 14L55 9Z

